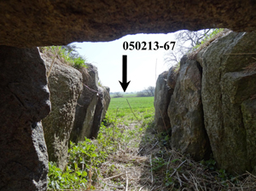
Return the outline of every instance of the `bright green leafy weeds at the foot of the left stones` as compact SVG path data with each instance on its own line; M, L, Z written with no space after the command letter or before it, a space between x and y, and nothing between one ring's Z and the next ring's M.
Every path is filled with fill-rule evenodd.
M49 163L48 187L53 189L94 188L91 183L97 181L98 166L106 160L109 152L108 149L103 149L104 145L109 143L108 140L101 141L100 147L87 138L77 145L70 142L66 169L61 171L55 163Z

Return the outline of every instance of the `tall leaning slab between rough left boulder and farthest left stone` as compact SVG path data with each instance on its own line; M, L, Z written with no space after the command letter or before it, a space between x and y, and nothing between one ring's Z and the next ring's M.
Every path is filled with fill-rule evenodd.
M99 96L97 68L91 64L86 65L88 68L81 71L84 87L76 107L72 142L84 141L84 137L90 137Z

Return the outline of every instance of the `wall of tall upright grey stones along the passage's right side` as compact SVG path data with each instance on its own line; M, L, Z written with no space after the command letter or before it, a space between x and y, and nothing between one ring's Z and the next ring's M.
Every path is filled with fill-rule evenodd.
M229 32L202 49L197 61L183 57L173 95L156 95L159 102L170 100L172 148L197 160L207 159L212 150L219 168L255 172L256 65L246 54L256 52L255 38L255 32ZM155 108L166 109L166 104Z

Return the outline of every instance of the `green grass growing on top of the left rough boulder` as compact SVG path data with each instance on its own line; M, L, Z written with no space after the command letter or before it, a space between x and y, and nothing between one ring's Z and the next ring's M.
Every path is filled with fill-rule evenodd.
M40 48L44 54L48 54L50 57L52 57L52 59L58 58L63 63L66 63L67 65L79 70L82 67L86 67L86 60L84 56L79 55L75 49L76 47L71 45L46 46Z

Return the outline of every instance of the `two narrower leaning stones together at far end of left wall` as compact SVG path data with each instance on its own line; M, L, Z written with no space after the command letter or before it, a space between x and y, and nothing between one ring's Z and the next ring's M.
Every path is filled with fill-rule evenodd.
M86 65L87 68L81 71L84 87L76 107L72 142L84 141L84 137L96 138L110 102L109 89L98 85L97 68Z

